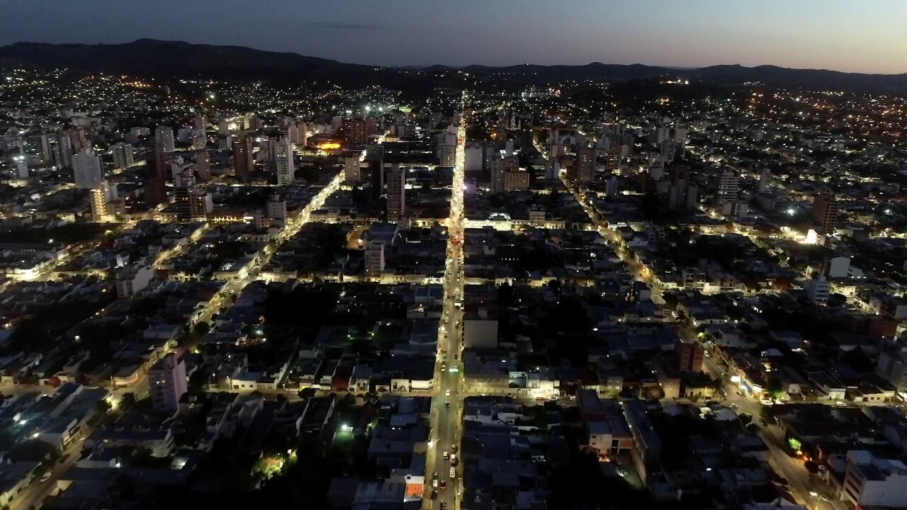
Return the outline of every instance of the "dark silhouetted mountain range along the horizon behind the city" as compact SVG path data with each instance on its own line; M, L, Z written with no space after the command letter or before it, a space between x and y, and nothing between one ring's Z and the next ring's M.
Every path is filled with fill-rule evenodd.
M770 86L809 90L845 90L870 93L907 93L907 74L858 74L817 69L790 69L775 65L745 67L712 65L677 69L644 64L511 65L494 67L432 65L420 68L346 64L294 53L268 52L243 46L189 44L139 39L126 44L15 43L0 47L0 65L67 68L91 73L130 74L155 78L203 77L260 79L278 82L326 81L384 84L396 88L426 85L456 86L467 72L493 80L506 75L520 86L562 79L627 81L678 77L716 84L760 82Z

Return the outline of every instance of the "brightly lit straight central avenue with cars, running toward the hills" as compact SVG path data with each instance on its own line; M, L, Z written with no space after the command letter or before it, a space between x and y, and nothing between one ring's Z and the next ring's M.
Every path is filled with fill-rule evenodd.
M465 95L464 95L465 98ZM464 112L464 109L461 110ZM463 310L458 306L463 299L463 172L466 142L465 113L461 116L460 131L457 137L456 162L453 167L453 184L451 190L451 215L447 221L447 265L444 270L444 315L441 319L438 338L438 362L435 366L435 385L437 397L432 400L431 436L426 458L426 487L431 494L437 491L437 498L425 499L424 508L440 509L442 503L447 508L459 506L462 495L460 484L463 473L457 462L454 468L456 476L450 476L451 460L444 456L457 456L459 461L460 413L463 406L461 395L463 388L463 351L461 333L463 331ZM456 450L456 453L453 451ZM446 455L445 455L446 454ZM434 476L437 476L438 488L434 489ZM444 489L441 485L446 485Z

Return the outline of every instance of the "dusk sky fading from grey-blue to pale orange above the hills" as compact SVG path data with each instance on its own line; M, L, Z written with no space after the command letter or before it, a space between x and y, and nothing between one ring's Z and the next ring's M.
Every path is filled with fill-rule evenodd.
M907 73L904 0L0 0L0 44L237 44L356 64Z

